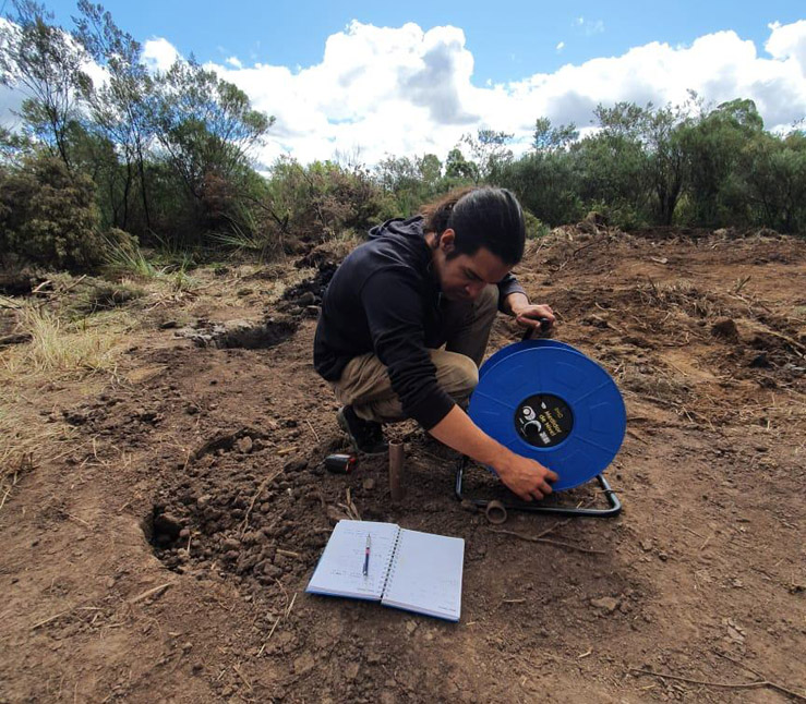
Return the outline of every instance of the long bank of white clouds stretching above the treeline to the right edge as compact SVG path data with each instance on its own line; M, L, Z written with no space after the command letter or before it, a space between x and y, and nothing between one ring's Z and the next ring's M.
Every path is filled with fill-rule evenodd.
M482 87L472 84L464 32L450 26L424 32L416 24L353 22L327 39L321 63L305 69L209 65L276 116L264 162L278 154L326 159L336 148L361 147L372 163L384 154L443 158L464 133L482 126L514 133L526 147L538 117L585 128L599 102L678 104L688 89L713 104L751 98L769 129L786 126L806 114L806 22L771 25L770 32L772 58L760 58L753 41L734 32L719 32L690 46L651 43Z

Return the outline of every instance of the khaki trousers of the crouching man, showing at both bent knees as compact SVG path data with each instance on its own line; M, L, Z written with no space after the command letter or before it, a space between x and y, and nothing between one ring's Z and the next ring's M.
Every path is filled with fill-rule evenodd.
M443 320L447 342L429 350L436 367L437 384L457 403L465 405L479 383L479 365L484 357L490 330L498 309L498 288L486 287L472 303L444 301ZM372 352L353 357L338 381L330 384L336 399L352 405L364 421L405 421L400 400L392 389L386 366Z

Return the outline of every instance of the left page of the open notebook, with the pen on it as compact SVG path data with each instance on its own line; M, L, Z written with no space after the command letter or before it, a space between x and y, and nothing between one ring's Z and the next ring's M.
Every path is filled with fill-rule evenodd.
M339 521L327 541L325 551L305 591L313 594L380 599L399 531L394 523ZM371 536L370 566L364 576L368 533Z

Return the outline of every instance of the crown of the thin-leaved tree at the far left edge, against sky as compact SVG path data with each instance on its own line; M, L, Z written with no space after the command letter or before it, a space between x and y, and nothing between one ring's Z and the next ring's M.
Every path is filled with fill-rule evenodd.
M86 83L86 56L52 13L34 0L12 0L15 14L0 27L0 83L25 95L21 116L33 137L72 170L68 148L77 118L76 90Z

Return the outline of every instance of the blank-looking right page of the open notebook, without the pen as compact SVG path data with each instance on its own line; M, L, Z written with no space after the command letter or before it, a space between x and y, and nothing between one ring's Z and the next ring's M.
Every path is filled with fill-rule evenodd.
M382 604L458 621L464 561L461 538L401 530Z

